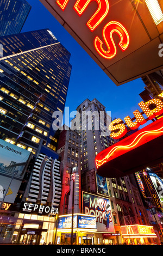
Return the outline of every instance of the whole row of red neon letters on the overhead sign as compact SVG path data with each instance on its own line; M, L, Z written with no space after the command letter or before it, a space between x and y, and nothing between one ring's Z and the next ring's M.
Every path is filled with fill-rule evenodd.
M56 3L62 9L62 11L65 11L68 2L69 0L56 0ZM77 0L73 9L79 16L82 16L91 2L96 2L98 5L98 9L96 10L95 14L93 14L86 23L86 26L91 32L93 32L99 26L99 24L105 20L105 17L109 15L109 1ZM115 33L120 37L120 42L118 45L122 51L125 51L129 46L130 39L126 28L124 28L124 26L118 21L110 21L106 23L102 31L104 41L102 41L98 36L96 36L94 40L94 46L97 53L105 59L111 59L115 57L117 53L117 47L113 39L113 34ZM103 47L104 44L106 46ZM105 47L107 47L107 50L104 49Z

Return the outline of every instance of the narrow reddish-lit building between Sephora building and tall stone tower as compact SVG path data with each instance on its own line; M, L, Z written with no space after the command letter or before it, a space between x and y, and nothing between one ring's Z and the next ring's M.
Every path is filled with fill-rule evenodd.
M66 129L65 129L66 127ZM57 153L61 156L60 173L62 179L62 196L59 214L72 213L71 176L76 173L76 194L74 195L74 213L81 211L81 182L80 182L80 138L76 131L63 126L60 131ZM78 188L78 189L77 189Z

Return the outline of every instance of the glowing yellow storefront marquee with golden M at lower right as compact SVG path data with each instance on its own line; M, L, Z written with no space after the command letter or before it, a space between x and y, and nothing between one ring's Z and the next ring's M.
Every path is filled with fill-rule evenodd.
M121 232L125 245L150 245L158 238L153 227L148 225L124 225Z

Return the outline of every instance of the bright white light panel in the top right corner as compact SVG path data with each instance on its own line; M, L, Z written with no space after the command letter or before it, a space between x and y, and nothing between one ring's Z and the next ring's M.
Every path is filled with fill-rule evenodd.
M155 25L158 25L161 21L163 21L163 14L158 0L145 0L145 2Z

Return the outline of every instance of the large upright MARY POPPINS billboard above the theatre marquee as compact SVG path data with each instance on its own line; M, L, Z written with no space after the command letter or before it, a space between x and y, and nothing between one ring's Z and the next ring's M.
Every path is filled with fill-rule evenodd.
M83 192L83 214L95 215L97 232L115 233L110 200L95 194Z

